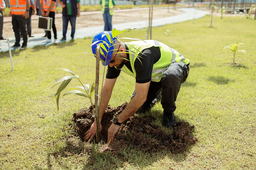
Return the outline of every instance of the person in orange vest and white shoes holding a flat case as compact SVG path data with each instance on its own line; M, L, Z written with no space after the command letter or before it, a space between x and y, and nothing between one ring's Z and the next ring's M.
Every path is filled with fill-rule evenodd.
M41 0L41 11L43 17L51 17L53 18L53 34L54 34L54 43L57 42L57 30L55 27L55 9L56 9L56 0ZM43 42L52 42L51 31L46 31L47 39Z

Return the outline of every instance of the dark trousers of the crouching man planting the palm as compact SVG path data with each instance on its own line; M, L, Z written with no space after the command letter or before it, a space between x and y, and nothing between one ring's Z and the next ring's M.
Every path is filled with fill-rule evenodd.
M158 98L164 112L171 113L176 110L175 101L180 90L180 86L188 77L189 67L185 63L172 63L164 72L160 82L150 82L147 100L142 105L143 110L150 109Z

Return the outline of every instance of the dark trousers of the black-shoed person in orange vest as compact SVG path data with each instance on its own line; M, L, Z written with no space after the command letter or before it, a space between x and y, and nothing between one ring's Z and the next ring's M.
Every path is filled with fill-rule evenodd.
M23 37L23 44L27 45L28 42L28 32L27 32L27 22L26 18L22 15L12 15L12 29L15 35L15 44L20 44L21 35ZM21 31L21 34L20 34Z

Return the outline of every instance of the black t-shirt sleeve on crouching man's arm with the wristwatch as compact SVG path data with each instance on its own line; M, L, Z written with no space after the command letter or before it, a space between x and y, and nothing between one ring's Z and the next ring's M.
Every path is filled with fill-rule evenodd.
M136 83L147 83L151 80L153 65L160 57L159 47L144 49L136 58L134 68L136 70Z

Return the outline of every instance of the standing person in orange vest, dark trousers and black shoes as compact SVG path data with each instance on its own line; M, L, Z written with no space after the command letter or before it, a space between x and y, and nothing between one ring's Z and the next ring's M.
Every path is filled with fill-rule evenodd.
M29 0L10 0L12 29L15 35L15 44L11 48L25 49L28 42L27 18L29 18ZM20 34L21 32L21 34ZM23 36L22 46L20 45Z

